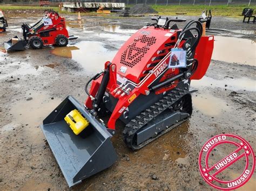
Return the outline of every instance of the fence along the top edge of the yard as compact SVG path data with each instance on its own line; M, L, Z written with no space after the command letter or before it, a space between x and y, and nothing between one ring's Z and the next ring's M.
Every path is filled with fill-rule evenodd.
M39 0L0 0L8 4L38 4ZM50 0L53 4L58 2L109 2L125 3L126 5L256 5L256 0Z

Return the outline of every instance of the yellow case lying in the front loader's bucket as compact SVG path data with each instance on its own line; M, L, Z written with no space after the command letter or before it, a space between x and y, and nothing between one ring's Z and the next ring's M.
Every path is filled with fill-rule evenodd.
M76 109L70 111L64 119L76 135L89 125L89 122Z

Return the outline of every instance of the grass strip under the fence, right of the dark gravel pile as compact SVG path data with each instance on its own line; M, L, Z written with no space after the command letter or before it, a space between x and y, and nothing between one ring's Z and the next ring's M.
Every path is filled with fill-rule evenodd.
M152 5L152 8L158 11L159 15L176 15L176 13L186 13L186 15L200 16L203 10L212 11L212 16L241 16L242 10L248 7L247 5ZM252 9L256 9L256 6L250 6Z

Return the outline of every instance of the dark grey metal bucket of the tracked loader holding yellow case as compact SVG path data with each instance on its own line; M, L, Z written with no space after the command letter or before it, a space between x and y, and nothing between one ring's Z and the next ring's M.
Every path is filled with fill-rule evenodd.
M77 109L90 122L75 135L64 117ZM68 96L43 121L41 128L69 187L110 167L116 160L111 134L75 98Z

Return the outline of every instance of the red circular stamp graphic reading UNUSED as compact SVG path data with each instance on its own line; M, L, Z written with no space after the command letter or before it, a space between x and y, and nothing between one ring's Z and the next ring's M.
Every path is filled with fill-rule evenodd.
M224 158L218 162L214 162L214 165L209 165L209 159L212 155L210 153L215 150L215 147L221 145L232 145L235 147L231 153L222 153ZM233 180L221 180L217 175L223 172L228 167L236 165L239 160L244 160L244 168L241 169L242 173ZM204 180L212 187L220 190L237 189L244 185L252 176L255 168L255 157L251 145L246 142L245 139L230 134L221 134L212 137L208 140L203 148L201 148L199 154L199 170Z

